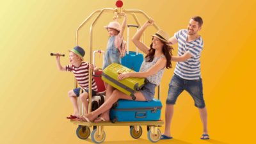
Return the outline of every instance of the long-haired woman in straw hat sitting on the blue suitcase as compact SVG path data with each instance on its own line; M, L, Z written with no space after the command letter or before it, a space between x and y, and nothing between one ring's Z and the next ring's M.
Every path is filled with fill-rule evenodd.
M153 24L154 21L152 19L148 20L132 38L132 42L136 45L136 47L147 54L147 56L145 56L145 60L141 64L140 72L127 72L118 76L119 81L127 77L145 77L148 79L148 83L146 83L140 91L134 93L136 97L135 100L138 101L152 100L155 95L155 88L157 85L159 85L163 76L164 67L172 67L172 47L166 44L169 38L167 33L162 30L157 31L157 33L153 35L152 44L150 47L147 47L147 45L140 42L140 37L143 34L143 31L145 31L148 26L152 26ZM109 111L109 109L111 109L112 105L118 99L131 100L132 97L120 92L119 90L114 90L109 99L107 99L104 104L100 106L100 108L83 116L83 121L92 122L98 117L98 115ZM101 115L95 120L95 122L106 120L109 120L109 115Z

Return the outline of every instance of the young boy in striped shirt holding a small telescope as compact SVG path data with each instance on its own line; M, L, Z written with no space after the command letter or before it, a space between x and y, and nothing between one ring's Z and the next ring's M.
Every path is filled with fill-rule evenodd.
M93 65L89 65L88 62L83 61L84 57L84 49L76 46L73 49L69 50L69 61L70 65L66 65L65 67L61 66L60 63L60 56L56 56L57 67L61 71L70 71L73 72L77 83L81 86L83 93L80 95L81 88L75 88L74 90L70 90L68 92L68 97L70 98L73 106L74 106L74 113L68 116L68 119L75 119L79 118L79 109L77 106L77 97L80 96L81 102L86 109L86 113L88 113L88 86L89 86L89 68L92 68L93 71L97 72L97 68ZM92 78L92 96L96 95L97 93L97 85Z

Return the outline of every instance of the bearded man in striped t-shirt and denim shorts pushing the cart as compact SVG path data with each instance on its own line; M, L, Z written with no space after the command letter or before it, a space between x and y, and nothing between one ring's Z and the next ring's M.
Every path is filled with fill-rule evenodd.
M199 109L200 118L204 127L201 139L209 140L207 109L205 108L200 72L200 54L204 42L202 37L198 35L198 31L202 28L202 24L203 20L201 17L192 17L189 20L188 29L181 29L168 40L170 44L178 43L178 56L172 57L172 61L177 61L177 65L169 84L165 111L166 124L161 140L172 139L170 125L173 116L173 106L183 90L186 90L193 97L195 106Z

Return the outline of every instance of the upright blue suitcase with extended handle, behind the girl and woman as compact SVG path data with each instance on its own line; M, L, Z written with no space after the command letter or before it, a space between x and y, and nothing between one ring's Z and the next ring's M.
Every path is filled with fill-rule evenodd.
M124 65L127 68L131 68L132 70L139 72L141 63L144 60L143 54L138 52L138 48L136 47L136 52L129 51L129 33L130 33L130 27L135 27L138 29L138 26L136 25L127 25L127 53L125 56L121 59L121 64Z

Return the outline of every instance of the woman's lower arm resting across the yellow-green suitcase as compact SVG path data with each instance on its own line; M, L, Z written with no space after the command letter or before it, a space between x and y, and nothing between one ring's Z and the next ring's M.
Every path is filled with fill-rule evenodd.
M117 78L119 81L121 81L122 79L125 79L127 77L149 77L159 72L159 70L163 69L165 66L166 66L166 58L161 58L156 62L155 65L150 67L145 72L127 72L127 73L120 74Z

